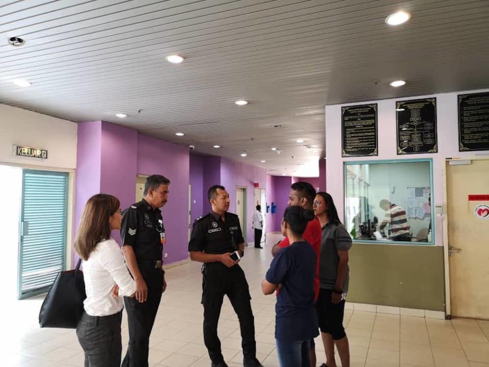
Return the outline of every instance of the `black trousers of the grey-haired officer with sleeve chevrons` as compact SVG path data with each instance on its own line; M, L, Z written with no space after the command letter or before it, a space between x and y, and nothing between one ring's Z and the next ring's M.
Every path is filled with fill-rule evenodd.
M163 271L154 268L139 268L148 286L148 299L139 303L137 299L124 297L129 327L129 344L122 367L148 367L149 336L158 312L163 291Z

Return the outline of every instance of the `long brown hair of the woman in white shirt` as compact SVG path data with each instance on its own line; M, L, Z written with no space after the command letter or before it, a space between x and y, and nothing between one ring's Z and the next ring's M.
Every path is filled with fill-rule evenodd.
M111 237L108 220L120 206L119 199L112 195L97 194L88 199L75 240L75 250L81 258L88 260L97 244Z

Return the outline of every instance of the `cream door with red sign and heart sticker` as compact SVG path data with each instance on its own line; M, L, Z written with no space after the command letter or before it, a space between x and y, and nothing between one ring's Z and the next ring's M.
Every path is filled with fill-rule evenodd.
M489 159L447 165L451 315L489 319Z

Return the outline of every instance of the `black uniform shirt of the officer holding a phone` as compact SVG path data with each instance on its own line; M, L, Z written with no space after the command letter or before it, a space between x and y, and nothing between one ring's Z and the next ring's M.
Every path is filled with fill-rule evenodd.
M188 251L223 254L236 251L238 245L243 242L243 234L236 214L225 213L223 222L219 214L210 212L196 219L188 243Z

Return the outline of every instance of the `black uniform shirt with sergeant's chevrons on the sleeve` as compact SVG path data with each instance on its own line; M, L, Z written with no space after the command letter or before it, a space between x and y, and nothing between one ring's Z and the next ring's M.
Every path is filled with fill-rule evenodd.
M146 200L141 200L122 212L122 245L134 250L136 259L162 260L163 244L166 242L161 211L153 210Z

